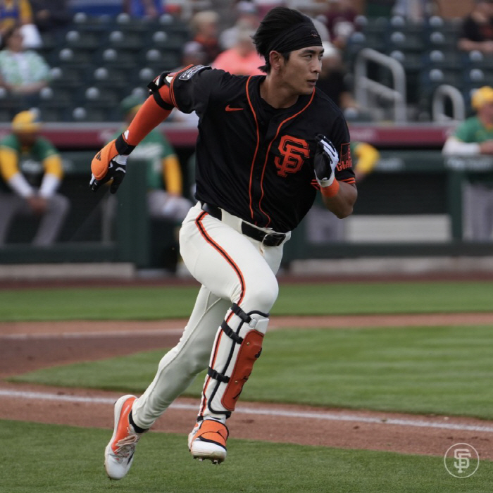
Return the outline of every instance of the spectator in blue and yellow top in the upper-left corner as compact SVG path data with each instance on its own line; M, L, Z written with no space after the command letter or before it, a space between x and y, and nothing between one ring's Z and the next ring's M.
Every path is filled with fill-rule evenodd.
M34 24L29 0L0 0L0 37L15 25L21 27L24 48L39 48L42 39Z

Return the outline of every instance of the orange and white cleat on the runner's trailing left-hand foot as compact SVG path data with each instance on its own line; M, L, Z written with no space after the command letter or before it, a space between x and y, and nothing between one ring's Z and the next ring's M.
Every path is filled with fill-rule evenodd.
M134 460L135 447L143 433L137 433L129 421L137 397L124 395L115 403L115 428L104 451L104 468L108 478L120 480L127 475Z

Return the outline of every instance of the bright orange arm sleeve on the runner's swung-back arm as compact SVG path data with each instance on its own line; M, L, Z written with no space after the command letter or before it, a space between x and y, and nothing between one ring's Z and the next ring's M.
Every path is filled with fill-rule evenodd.
M168 86L161 87L159 89L159 94L163 101L170 104L170 106L173 106ZM123 134L127 144L130 144L131 146L139 144L153 128L157 127L163 120L166 120L170 113L171 110L161 108L161 106L156 103L154 96L149 96L139 108L139 111L137 111L128 130Z

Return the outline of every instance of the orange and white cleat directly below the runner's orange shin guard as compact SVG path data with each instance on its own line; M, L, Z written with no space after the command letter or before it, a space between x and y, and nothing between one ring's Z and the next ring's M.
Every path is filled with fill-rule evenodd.
M220 464L226 458L226 440L230 435L227 426L213 419L204 419L196 423L188 435L188 449L193 458L209 460Z

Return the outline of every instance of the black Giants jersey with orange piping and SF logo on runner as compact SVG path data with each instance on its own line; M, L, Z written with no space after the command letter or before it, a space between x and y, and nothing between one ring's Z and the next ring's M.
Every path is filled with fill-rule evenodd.
M261 99L264 75L235 76L195 65L166 77L173 105L196 111L196 199L260 227L293 230L313 205L317 134L335 145L335 177L354 183L349 130L323 92L289 108Z

